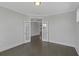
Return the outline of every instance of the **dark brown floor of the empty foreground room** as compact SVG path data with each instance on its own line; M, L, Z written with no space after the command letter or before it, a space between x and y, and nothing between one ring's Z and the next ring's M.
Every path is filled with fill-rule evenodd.
M0 52L1 56L78 56L75 48L34 38L29 43Z

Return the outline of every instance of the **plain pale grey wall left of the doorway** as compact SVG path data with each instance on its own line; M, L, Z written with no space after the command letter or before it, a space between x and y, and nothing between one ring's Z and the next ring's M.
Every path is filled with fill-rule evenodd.
M0 7L0 51L25 42L23 26L26 18L17 12Z

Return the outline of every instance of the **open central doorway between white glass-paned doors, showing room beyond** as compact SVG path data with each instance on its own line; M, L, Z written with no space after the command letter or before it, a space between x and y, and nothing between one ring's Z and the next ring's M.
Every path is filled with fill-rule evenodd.
M42 19L31 19L31 42L42 45Z

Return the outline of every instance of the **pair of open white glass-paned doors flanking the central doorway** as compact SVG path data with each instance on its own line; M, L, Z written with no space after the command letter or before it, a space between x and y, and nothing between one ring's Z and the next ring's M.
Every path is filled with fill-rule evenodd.
M31 21L24 22L24 40L25 40L25 43L31 42ZM49 42L48 21L46 20L42 20L42 41Z

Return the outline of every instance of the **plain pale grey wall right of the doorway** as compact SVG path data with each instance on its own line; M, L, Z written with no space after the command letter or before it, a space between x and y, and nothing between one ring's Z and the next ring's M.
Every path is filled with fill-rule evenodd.
M52 15L44 18L49 23L49 42L75 46L76 13L75 11Z

